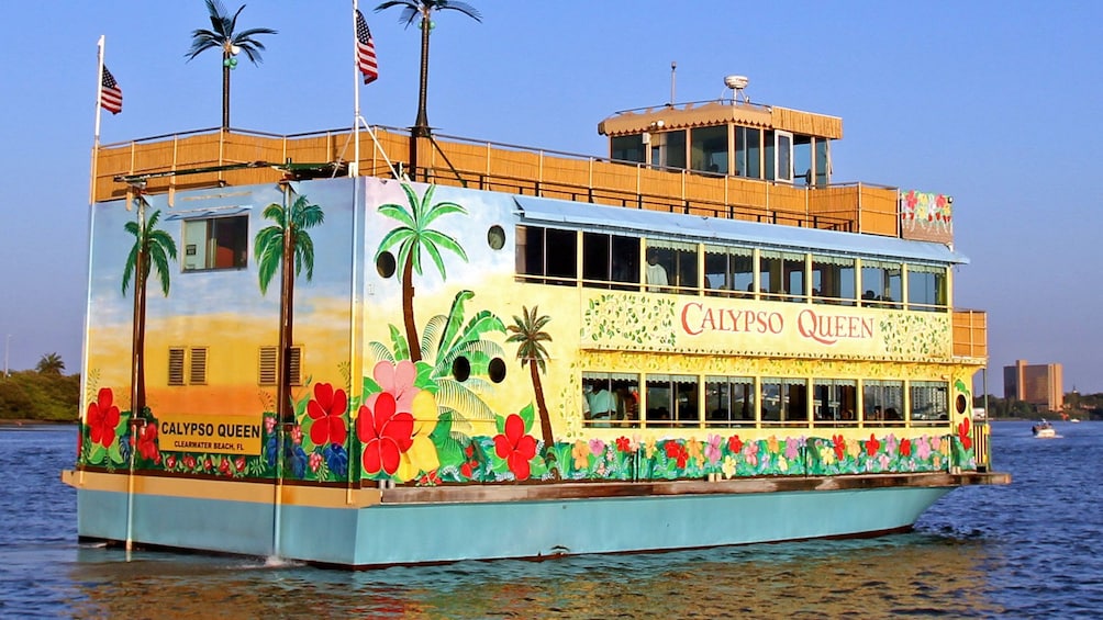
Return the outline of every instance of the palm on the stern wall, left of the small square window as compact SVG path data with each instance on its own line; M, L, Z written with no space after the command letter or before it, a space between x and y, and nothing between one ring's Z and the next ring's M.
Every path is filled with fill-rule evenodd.
M146 219L149 204L138 196L138 220L128 221L124 228L135 237L135 244L127 255L122 270L122 294L127 294L130 279L135 281L133 337L131 340L130 410L142 415L146 410L146 291L147 281L157 271L161 282L161 294L169 296L171 276L169 261L176 260L176 243L172 236L157 228L161 211L156 210Z

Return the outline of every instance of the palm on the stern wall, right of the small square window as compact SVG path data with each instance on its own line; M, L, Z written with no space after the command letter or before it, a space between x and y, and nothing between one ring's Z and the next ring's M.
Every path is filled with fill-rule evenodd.
M299 196L290 205L291 186L283 183L283 204L272 203L265 207L264 217L275 222L257 232L254 240L254 255L260 281L260 294L268 293L276 272L280 272L279 306L279 398L276 413L281 422L290 422L288 407L291 401L291 385L288 380L288 356L293 339L295 279L307 271L307 281L314 276L314 242L307 230L322 224L325 214L306 196Z

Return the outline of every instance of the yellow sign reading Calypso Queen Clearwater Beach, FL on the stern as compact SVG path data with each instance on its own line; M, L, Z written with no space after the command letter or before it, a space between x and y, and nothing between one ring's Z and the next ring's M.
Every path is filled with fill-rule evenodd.
M162 452L260 455L259 416L162 415L158 425Z

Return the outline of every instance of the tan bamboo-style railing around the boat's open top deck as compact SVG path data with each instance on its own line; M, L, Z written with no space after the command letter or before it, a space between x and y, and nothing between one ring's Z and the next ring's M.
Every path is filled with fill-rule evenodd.
M421 167L415 168L407 130L375 127L358 137L357 170L372 176L389 177L399 171L439 185L492 192L890 237L900 232L899 192L893 187L864 183L797 187L442 134L424 140ZM349 129L289 135L199 130L107 144L96 156L92 198L124 196L127 188L117 181L120 176L289 160L347 164L355 152L352 140ZM267 183L280 174L258 165L165 175L149 178L146 192Z

